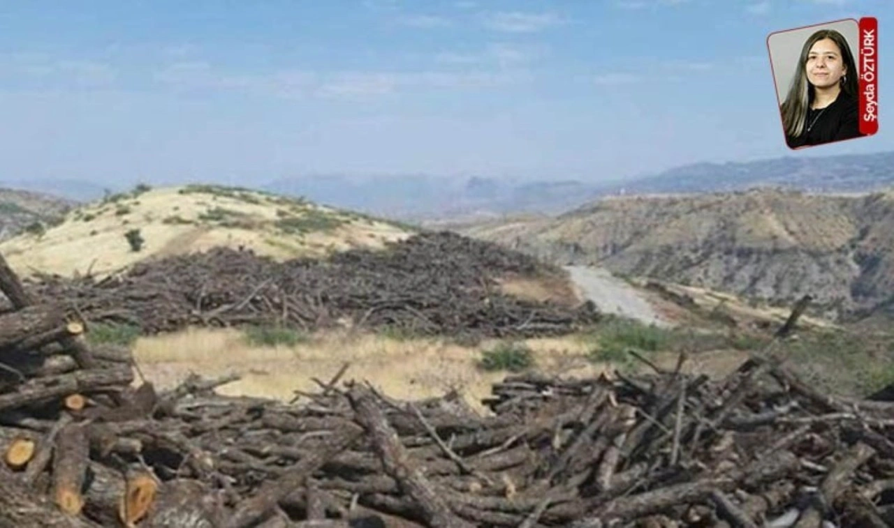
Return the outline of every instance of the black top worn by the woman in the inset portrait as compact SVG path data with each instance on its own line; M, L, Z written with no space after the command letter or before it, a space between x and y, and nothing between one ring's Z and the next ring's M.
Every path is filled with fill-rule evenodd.
M789 147L797 148L863 136L860 133L859 106L856 96L841 90L839 96L825 108L814 110L808 107L804 131L797 138L787 136L786 142Z

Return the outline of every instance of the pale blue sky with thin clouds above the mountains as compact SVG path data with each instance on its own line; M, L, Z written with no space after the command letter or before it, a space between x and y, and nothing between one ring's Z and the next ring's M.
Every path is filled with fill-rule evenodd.
M894 145L892 14L890 0L0 0L0 180L599 182L878 152ZM867 15L880 132L789 150L768 34Z

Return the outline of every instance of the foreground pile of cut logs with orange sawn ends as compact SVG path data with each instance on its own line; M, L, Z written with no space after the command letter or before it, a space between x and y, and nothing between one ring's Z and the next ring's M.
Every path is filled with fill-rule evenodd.
M721 380L648 374L408 402L169 391L0 263L0 526L881 527L894 404L818 393L773 349Z

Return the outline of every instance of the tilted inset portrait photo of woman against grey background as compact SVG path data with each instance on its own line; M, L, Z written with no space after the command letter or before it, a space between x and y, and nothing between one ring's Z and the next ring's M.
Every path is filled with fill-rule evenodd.
M854 19L767 37L782 131L793 149L861 138L860 27Z

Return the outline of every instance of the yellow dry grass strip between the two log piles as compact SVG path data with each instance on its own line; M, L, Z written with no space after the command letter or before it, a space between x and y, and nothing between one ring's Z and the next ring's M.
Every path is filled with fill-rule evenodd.
M586 343L573 338L528 339L538 370L555 375L592 376L607 365L586 361ZM159 388L170 388L190 373L216 377L242 376L218 389L225 395L289 400L294 390L316 391L312 381L328 381L345 362L342 380L369 381L392 398L429 398L458 390L470 406L484 412L481 398L505 372L483 372L476 366L481 349L440 339L392 339L350 331L318 332L296 346L249 345L241 331L190 328L143 337L133 346L140 372Z

